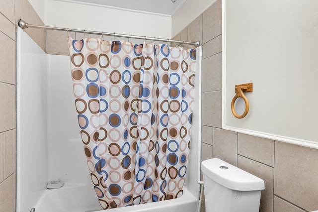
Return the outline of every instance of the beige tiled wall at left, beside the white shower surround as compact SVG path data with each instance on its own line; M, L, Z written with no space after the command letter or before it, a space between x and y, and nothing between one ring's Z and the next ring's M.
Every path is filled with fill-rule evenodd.
M15 211L16 23L43 24L27 0L0 0L0 212ZM45 31L27 30L45 51Z

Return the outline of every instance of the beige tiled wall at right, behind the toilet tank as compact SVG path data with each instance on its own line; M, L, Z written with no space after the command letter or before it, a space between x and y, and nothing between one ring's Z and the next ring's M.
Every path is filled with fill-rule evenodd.
M262 178L261 212L318 210L318 149L222 129L221 24L217 0L173 38L203 44L201 159L218 157Z

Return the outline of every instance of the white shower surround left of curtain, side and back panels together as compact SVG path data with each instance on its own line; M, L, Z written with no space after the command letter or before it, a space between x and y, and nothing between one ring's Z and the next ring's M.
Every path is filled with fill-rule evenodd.
M91 182L69 56L46 54L20 28L17 37L17 212L26 212L50 180Z

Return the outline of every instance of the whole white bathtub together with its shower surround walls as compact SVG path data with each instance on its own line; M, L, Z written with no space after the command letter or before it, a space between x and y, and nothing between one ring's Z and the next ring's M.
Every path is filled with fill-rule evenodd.
M103 212L82 152L74 102L65 101L74 98L70 57L46 54L20 28L17 32L17 55L16 211ZM197 57L202 58L201 47L197 48ZM107 211L196 211L201 164L201 63L197 68L191 150L183 196ZM29 83L35 79L42 83ZM65 182L65 186L58 190L45 190L47 182L56 179Z

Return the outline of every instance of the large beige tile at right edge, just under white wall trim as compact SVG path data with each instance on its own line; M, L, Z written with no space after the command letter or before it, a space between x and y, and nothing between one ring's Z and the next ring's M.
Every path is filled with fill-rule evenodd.
M275 141L275 195L318 210L318 149Z

